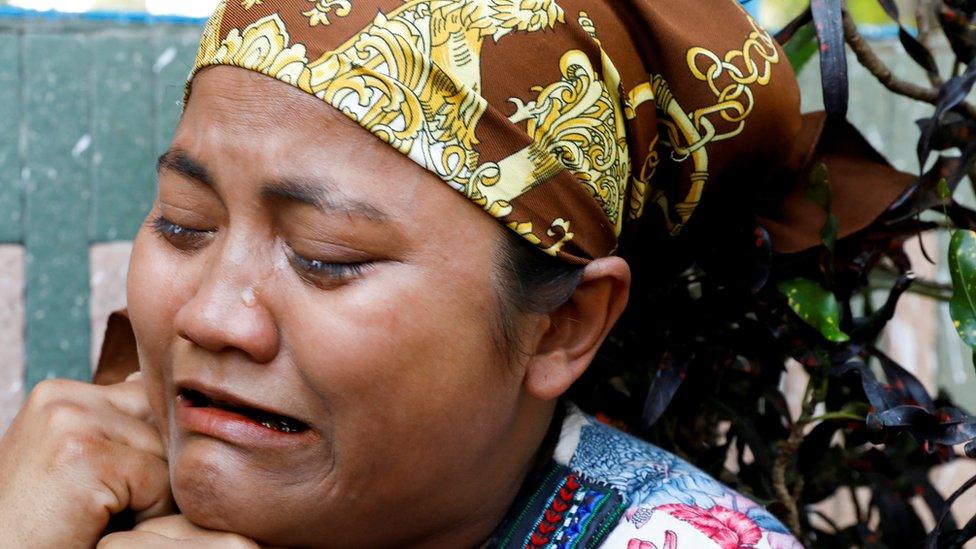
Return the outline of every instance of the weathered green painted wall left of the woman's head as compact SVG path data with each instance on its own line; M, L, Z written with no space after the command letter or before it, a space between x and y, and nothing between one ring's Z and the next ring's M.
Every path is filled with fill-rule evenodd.
M0 243L27 252L28 389L90 375L89 246L146 215L200 28L0 15Z

